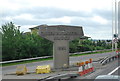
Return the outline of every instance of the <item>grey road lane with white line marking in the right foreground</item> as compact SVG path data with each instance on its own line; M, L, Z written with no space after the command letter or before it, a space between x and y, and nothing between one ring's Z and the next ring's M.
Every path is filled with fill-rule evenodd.
M109 64L102 67L96 68L95 72L88 74L86 76L79 76L73 79L64 79L61 81L94 81L99 75L120 75L120 59L115 60ZM114 81L114 80L97 80L97 81ZM116 81L116 80L115 80ZM118 80L117 80L118 81Z

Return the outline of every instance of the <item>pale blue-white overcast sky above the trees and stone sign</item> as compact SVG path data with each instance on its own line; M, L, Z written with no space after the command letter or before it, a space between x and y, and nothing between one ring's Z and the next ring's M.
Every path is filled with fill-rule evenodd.
M12 21L21 31L47 25L82 26L92 39L112 38L112 0L2 0L0 25Z

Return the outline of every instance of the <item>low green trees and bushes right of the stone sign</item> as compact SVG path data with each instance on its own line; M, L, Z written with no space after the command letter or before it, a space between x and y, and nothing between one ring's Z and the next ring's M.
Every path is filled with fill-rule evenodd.
M71 53L104 49L111 49L111 40L76 39L70 42Z

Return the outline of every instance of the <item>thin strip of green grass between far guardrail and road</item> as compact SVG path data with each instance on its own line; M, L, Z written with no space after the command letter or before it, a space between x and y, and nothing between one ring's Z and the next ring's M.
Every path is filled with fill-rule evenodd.
M93 52L93 53L75 54L75 55L70 55L70 56L82 56L82 55L99 54L99 53L106 53L106 52L111 52L111 51L101 51L101 52ZM0 66L4 67L4 66L11 66L11 65L39 62L39 61L47 61L47 60L52 60L52 59L53 58L51 57L51 58L43 58L43 59L37 59L37 60L28 60L28 61L15 62L15 63L5 63L5 64L0 64Z

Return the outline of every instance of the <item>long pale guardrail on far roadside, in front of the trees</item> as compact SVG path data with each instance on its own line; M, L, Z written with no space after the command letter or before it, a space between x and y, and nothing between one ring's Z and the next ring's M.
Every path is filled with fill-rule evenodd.
M76 53L69 53L69 55L77 55L77 54L83 54L83 53L94 53L94 52L109 51L109 50L111 50L111 49L108 49L108 50L96 50L96 51L86 51L86 52L76 52ZM51 58L51 57L53 57L53 56L44 56L44 57L35 57L35 58L20 59L20 60L3 61L3 62L0 62L0 64L22 62L22 61L28 61L28 60L37 60L37 59Z

